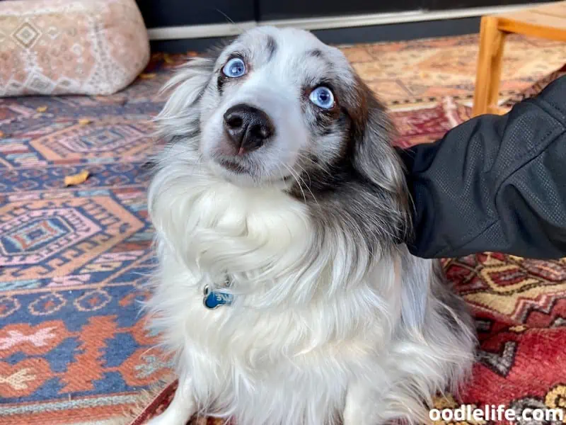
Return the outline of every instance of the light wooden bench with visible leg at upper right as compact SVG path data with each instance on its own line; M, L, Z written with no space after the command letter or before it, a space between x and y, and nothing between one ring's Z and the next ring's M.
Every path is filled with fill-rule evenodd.
M498 101L507 34L566 42L566 1L482 18L473 116L504 112L498 107Z

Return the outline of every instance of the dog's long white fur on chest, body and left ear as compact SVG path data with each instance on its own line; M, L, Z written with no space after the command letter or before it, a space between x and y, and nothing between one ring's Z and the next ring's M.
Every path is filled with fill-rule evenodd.
M190 132L208 81L194 67L173 81L164 135ZM360 250L347 226L317 238L301 200L229 183L202 161L199 137L164 149L149 191L151 327L180 380L151 424L183 425L195 412L241 425L427 421L426 404L466 374L474 344L462 313L434 294L434 263L404 246ZM226 273L234 304L205 309L204 285Z

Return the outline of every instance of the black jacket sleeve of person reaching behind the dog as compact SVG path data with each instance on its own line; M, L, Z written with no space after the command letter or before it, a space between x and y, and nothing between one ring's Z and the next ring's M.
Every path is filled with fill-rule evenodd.
M566 256L566 77L507 115L482 115L401 152L412 254Z

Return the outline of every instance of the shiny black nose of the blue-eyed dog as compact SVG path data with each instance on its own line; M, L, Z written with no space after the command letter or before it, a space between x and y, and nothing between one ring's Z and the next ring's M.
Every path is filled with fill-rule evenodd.
M224 113L224 128L238 154L258 149L275 130L265 112L245 103L232 106Z

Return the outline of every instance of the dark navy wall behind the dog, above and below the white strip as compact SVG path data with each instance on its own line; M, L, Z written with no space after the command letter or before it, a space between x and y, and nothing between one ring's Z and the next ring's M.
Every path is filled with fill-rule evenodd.
M190 26L229 21L266 21L270 19L313 16L343 16L357 13L414 11L419 8L442 10L480 6L501 6L544 2L547 0L137 0L148 28ZM555 0L558 1L558 0ZM190 3L190 6L187 4ZM347 44L412 40L478 33L480 18L423 21L391 25L337 28L313 31L323 42ZM203 51L218 45L219 38L152 41L151 48L161 52Z

